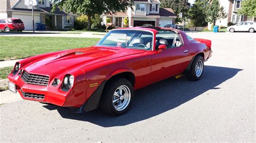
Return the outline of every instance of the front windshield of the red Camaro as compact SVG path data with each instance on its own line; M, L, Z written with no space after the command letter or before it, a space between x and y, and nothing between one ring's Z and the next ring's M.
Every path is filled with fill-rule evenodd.
M100 40L97 46L111 46L132 49L152 49L153 34L140 30L112 30Z

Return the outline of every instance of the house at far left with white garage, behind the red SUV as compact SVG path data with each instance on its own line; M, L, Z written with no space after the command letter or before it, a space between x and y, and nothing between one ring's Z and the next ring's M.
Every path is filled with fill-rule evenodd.
M25 30L32 30L32 10L24 4L25 0L0 0L0 18L20 18ZM75 15L57 8L51 13L52 3L50 0L37 0L34 6L34 22L46 24L48 28L73 27Z

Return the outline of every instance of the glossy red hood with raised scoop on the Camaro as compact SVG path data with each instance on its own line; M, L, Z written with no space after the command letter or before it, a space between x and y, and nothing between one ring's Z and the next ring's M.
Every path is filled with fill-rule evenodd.
M32 62L24 69L29 73L48 75L50 77L66 71L90 66L98 62L122 56L143 53L143 50L115 47L92 46L88 48L70 49L62 53L50 55Z

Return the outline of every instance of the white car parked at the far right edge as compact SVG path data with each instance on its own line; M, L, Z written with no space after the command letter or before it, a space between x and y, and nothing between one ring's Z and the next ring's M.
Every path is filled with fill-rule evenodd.
M235 24L233 26L228 26L227 31L236 32L236 31L249 31L253 33L256 31L256 23L255 22L241 22Z

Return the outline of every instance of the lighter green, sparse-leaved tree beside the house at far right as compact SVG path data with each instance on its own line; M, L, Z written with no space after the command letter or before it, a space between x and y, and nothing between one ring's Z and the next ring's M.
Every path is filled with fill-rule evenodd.
M220 6L219 0L212 0L207 6L206 21L216 24L216 21L227 17L227 13L224 11L223 6Z

